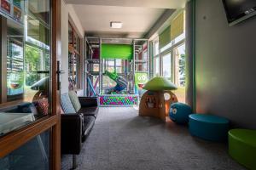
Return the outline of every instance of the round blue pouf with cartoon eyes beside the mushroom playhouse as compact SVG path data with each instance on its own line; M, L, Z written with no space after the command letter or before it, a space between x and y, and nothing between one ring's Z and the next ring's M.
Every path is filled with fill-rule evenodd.
M170 106L169 116L173 122L187 123L190 114L192 114L192 109L189 105L177 102Z

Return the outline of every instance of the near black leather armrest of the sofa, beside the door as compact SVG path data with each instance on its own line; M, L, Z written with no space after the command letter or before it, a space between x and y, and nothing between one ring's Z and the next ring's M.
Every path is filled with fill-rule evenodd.
M61 114L61 154L80 153L83 121L81 114Z

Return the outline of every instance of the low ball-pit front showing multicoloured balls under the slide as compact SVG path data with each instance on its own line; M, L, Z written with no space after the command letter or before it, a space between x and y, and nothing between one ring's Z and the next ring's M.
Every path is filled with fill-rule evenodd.
M137 105L136 94L105 94L99 96L100 105Z

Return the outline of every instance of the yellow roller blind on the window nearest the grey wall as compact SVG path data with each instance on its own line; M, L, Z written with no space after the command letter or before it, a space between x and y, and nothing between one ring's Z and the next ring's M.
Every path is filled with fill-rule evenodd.
M181 35L184 30L184 12L178 14L171 22L171 41Z

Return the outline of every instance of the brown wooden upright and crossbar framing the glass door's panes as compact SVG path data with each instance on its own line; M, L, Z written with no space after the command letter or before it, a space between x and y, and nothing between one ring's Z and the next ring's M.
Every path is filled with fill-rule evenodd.
M7 156L40 133L51 129L50 169L59 170L61 169L61 105L57 61L61 59L61 0L51 0L51 18L51 115L3 136L0 139L0 158Z

